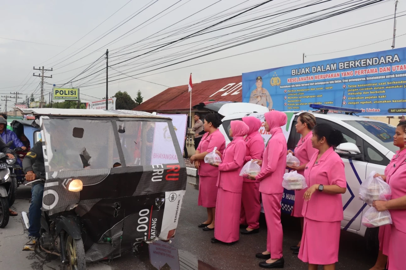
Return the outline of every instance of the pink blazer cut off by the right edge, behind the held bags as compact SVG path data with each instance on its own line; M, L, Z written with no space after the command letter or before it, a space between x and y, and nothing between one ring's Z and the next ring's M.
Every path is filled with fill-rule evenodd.
M391 186L392 199L406 196L406 159L397 163L391 172L386 176L386 182ZM406 233L406 210L389 210L392 222L396 229Z

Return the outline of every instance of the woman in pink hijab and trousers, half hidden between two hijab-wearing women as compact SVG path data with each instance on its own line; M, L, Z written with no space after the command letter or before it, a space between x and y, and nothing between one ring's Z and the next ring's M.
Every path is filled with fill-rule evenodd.
M248 116L242 118L242 122L249 127L248 136L244 140L247 145L244 163L251 161L251 159L262 160L265 143L261 134L259 134L259 129L262 125L261 120L254 116ZM241 234L256 234L259 232L259 215L261 214L259 196L259 181L244 178L244 183L242 183L240 224L243 226L248 225L248 227L243 229Z

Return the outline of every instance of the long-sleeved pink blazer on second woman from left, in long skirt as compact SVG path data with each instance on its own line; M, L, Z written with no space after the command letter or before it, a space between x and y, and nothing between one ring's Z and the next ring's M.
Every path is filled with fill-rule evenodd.
M244 165L246 146L240 138L234 138L222 155L222 162L218 165L217 186L226 191L242 193L243 177L240 171Z

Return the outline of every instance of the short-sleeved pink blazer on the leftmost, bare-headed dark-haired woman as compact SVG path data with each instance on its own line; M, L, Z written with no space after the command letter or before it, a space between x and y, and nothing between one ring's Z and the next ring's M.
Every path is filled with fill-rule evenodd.
M203 152L213 152L214 147L217 147L217 150L223 154L224 149L226 148L226 140L221 132L217 129L212 134L209 135L206 132L201 141L197 150L201 153ZM200 169L199 169L199 176L209 176L209 177L217 177L218 176L218 168L213 167L210 164L204 162L204 160L200 161Z

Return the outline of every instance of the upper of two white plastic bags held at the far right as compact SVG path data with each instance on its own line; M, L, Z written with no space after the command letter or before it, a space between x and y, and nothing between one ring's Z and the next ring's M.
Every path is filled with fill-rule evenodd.
M389 184L380 177L374 177L375 174L376 171L372 171L359 187L358 198L365 201L369 206L374 201L389 201L392 197Z

